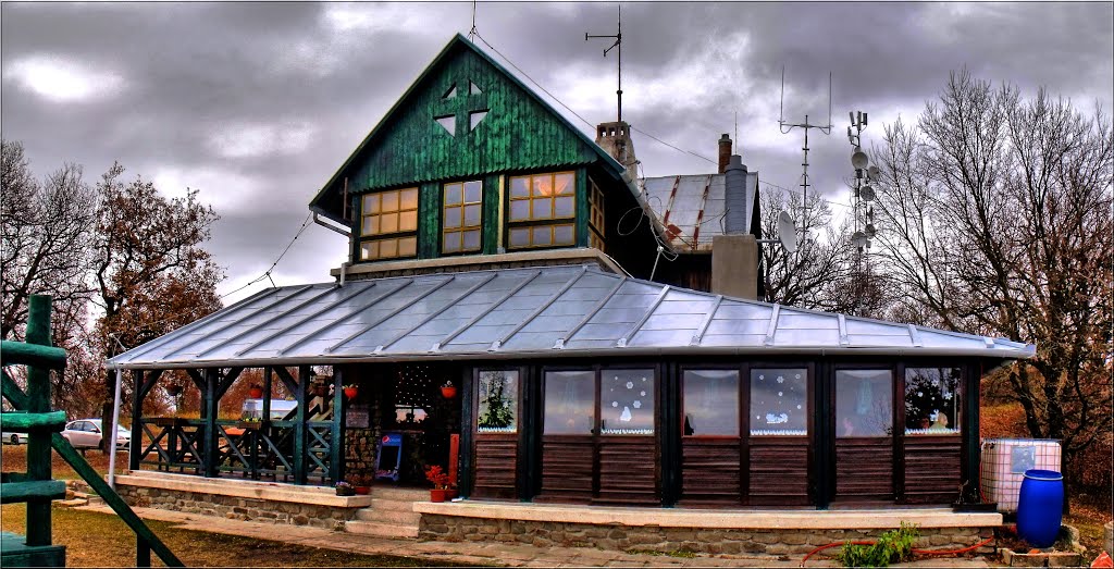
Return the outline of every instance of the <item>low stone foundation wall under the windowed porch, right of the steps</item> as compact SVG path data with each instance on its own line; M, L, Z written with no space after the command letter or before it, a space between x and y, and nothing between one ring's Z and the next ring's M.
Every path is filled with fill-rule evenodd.
M871 540L883 529L700 529L656 526L595 526L587 523L494 520L423 513L418 539L440 541L500 541L536 547L596 547L618 551L805 555L833 542ZM918 548L960 549L994 536L993 528L922 528ZM987 545L978 552L990 553Z

